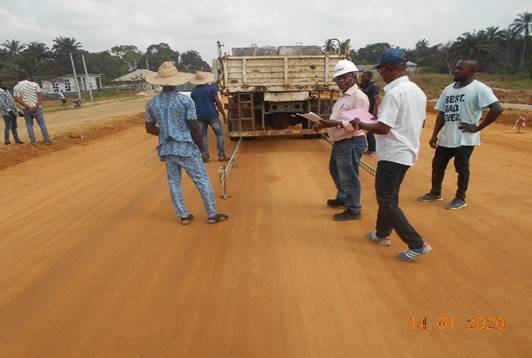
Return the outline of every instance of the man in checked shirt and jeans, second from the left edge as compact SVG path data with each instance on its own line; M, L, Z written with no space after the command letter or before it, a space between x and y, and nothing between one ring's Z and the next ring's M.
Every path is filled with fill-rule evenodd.
M24 108L23 112L24 119L26 120L26 129L28 130L28 136L30 137L31 143L34 144L36 142L35 133L33 132L33 119L35 118L37 124L41 128L44 143L52 144L42 114L41 103L43 100L43 91L39 85L35 82L22 80L15 86L15 88L13 88L13 94L15 95L17 102Z

